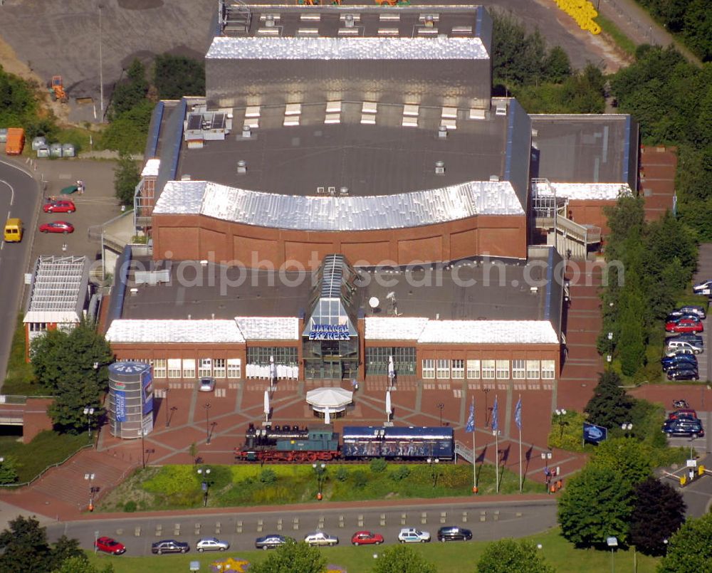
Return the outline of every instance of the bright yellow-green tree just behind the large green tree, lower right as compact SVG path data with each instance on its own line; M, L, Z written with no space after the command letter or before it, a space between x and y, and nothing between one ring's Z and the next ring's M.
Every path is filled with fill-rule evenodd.
M653 472L649 446L635 438L609 438L602 441L590 463L632 486L650 478Z

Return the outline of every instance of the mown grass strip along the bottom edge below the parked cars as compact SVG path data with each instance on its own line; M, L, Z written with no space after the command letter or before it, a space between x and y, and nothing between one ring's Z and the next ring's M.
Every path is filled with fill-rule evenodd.
M342 537L344 537L342 535ZM611 554L602 550L580 550L567 542L559 534L559 530L551 530L540 535L533 535L530 539L542 545L542 552L547 562L553 565L560 573L600 573L611 569ZM412 547L434 562L440 573L468 573L473 572L477 559L481 555L486 542L468 543L429 543L426 545L413 544ZM333 547L324 548L329 564L345 567L348 573L367 573L374 562L373 554L379 552L374 547ZM129 557L128 554L120 557L107 555L91 555L93 562L106 564L111 562L116 573L174 573L187 571L189 562L199 561L201 572L209 571L209 564L216 559L224 559L232 555L246 559L249 562L260 562L266 557L263 551L242 551L227 554L188 554L188 555L162 555L152 557ZM658 559L637 554L637 569L633 567L634 552L619 551L614 555L615 567L619 571L637 571L637 573L653 573ZM297 573L297 572L295 572Z

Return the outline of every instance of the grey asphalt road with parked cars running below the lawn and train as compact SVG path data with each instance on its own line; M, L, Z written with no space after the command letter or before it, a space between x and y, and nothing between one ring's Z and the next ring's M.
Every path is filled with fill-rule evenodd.
M127 554L148 555L152 542L176 539L189 542L192 551L201 537L218 537L230 543L231 550L255 548L256 537L280 533L296 540L320 529L350 543L359 530L382 534L386 544L397 542L401 527L417 527L430 532L434 540L442 525L461 525L473 532L474 540L522 537L556 525L554 499L506 502L493 505L464 502L455 505L422 505L418 508L360 508L262 510L218 515L164 515L126 517L115 520L85 520L48 526L51 540L66 534L80 540L82 547L93 547L95 535L108 535L127 547Z

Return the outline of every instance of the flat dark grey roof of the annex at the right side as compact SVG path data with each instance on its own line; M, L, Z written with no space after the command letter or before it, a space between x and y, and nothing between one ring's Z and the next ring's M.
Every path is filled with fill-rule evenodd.
M564 183L628 182L628 115L531 115L538 132L532 177ZM637 135L637 132L636 134ZM632 144L637 153L637 142Z

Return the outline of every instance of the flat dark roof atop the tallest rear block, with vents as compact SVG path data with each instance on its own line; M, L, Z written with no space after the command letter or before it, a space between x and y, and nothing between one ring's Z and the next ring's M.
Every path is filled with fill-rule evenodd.
M364 3L365 4L365 3ZM379 29L397 28L398 36L410 38L419 29L430 28L436 33L451 35L453 28L470 27L456 35L473 37L477 28L477 6L399 6L384 9L379 6L250 6L252 13L248 36L258 36L266 28L266 15L271 14L280 36L298 36L303 28L318 28L320 36L335 37L346 28L346 15L353 16L359 36L378 36ZM315 19L315 16L319 19ZM399 16L398 19L395 17ZM426 16L433 16L432 26L426 26ZM486 27L486 26L483 26ZM487 46L489 47L489 46Z

